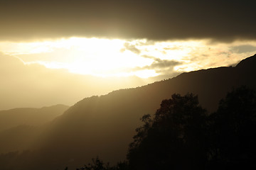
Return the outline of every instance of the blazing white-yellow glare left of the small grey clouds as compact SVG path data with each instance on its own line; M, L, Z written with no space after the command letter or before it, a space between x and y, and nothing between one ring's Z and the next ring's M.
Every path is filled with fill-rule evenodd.
M75 74L97 77L154 77L154 70L133 71L154 60L124 49L126 40L69 38L44 42L0 42L8 55L25 64L42 64L50 69L68 69ZM134 42L131 42L134 43ZM0 47L0 48L1 48Z

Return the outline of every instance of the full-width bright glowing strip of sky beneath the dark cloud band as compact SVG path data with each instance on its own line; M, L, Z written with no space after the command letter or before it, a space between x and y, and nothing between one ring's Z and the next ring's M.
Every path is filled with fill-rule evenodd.
M240 53L239 49L246 45L239 41L227 45L210 44L210 40L73 37L38 42L0 41L0 52L18 57L24 64L41 64L49 69L66 69L75 74L149 78L234 64L251 55L252 52ZM256 42L250 42L250 45L256 49Z

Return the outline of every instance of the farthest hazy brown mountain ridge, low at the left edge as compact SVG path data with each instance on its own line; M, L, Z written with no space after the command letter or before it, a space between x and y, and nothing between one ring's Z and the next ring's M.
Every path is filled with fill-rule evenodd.
M18 125L42 125L66 111L69 106L55 105L43 108L14 108L0 111L0 131Z

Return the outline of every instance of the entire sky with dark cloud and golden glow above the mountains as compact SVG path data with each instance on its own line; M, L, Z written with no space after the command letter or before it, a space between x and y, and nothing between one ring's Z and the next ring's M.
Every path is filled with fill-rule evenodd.
M0 110L235 66L256 53L254 3L0 0Z

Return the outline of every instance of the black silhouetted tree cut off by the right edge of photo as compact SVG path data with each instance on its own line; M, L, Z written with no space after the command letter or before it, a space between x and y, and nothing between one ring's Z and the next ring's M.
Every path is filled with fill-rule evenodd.
M256 168L256 95L242 86L220 101L211 115L213 169ZM214 152L213 152L214 151Z

